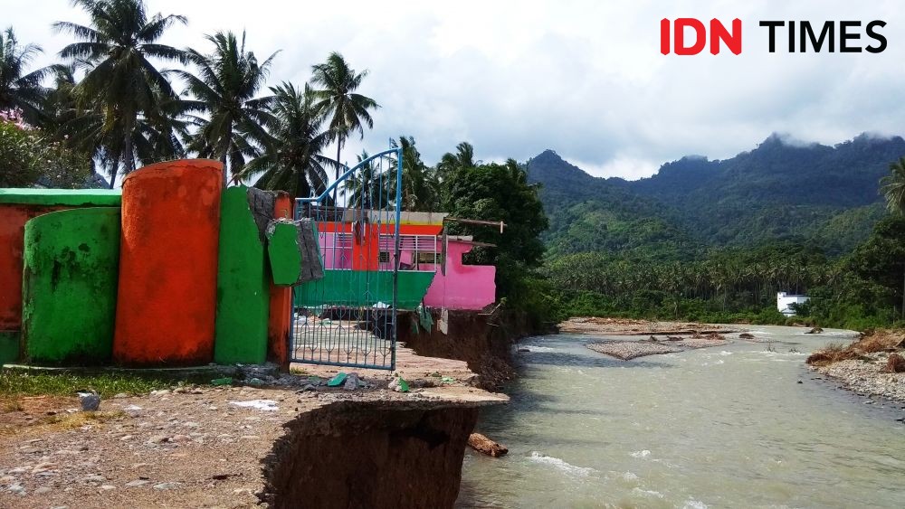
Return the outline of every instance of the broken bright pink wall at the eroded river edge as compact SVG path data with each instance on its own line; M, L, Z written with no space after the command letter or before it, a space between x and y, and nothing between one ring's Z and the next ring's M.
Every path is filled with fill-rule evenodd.
M492 265L462 265L462 255L470 250L472 245L466 241L449 240L446 275L437 268L437 275L424 296L425 306L482 309L496 300L497 287L493 279L497 268Z

